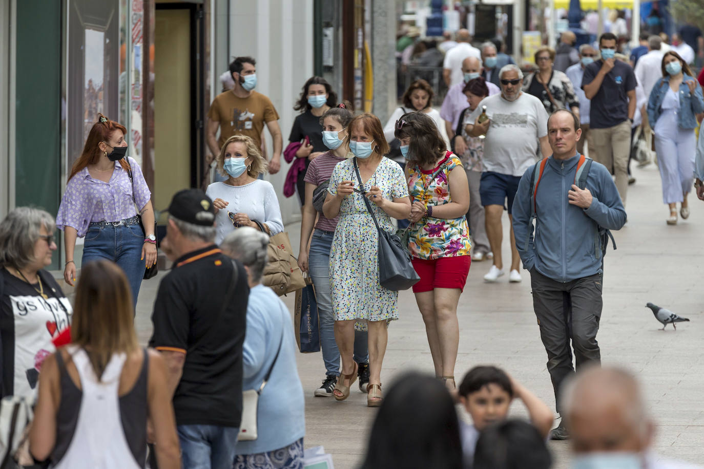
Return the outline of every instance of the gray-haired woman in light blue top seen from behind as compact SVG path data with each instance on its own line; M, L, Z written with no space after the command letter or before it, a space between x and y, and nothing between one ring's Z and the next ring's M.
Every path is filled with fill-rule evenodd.
M296 367L296 338L284 303L261 284L269 236L249 226L229 233L220 249L239 260L249 276L247 326L242 346L242 390L260 389L257 439L237 442L233 468L303 467L306 434L303 387Z

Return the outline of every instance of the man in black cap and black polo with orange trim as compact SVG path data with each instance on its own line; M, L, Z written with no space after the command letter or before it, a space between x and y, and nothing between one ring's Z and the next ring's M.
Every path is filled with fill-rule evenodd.
M203 191L176 193L168 212L174 265L159 285L149 345L168 367L183 467L230 467L242 412L247 274L213 244L215 208Z

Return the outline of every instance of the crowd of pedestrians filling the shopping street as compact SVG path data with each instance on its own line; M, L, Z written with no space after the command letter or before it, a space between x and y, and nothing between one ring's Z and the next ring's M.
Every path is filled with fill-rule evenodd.
M313 395L344 401L358 381L367 406L379 407L363 468L548 468L548 438L572 439L575 468L674 467L649 452L653 423L633 376L598 368L596 335L603 256L610 231L627 223L631 139L646 125L634 127L636 112L654 129L667 224L676 224L677 203L689 217L695 177L704 200L701 87L677 51L658 52L656 37L634 72L615 57L613 34L598 51L570 50L567 34L558 51L536 51L529 75L500 63L492 43L476 49L465 30L455 39L441 110L418 79L384 125L311 77L286 148L277 110L254 91L256 60L233 60L223 80L232 88L208 113L219 177L206 191L179 191L167 210L160 248L172 269L158 285L148 349L132 321L142 280L156 274L151 192L126 155L125 127L98 115L56 218L19 207L0 224L2 396L36 394L25 456L57 468L144 468L148 458L152 468L302 468L297 331L267 283L283 263L287 277L299 269L315 288L325 378ZM282 154L292 163L284 191L301 202L293 262L275 258L284 224L261 179L279 171ZM44 270L56 228L73 306ZM458 302L472 261L484 259L486 282L508 270L519 283L521 266L530 275L557 428L553 411L496 366L455 380ZM434 377L403 375L387 390L384 354L408 288ZM529 423L508 418L513 399Z

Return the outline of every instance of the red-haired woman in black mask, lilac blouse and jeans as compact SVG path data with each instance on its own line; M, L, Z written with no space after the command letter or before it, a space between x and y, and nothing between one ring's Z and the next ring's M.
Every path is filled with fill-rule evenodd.
M82 265L96 259L118 264L130 281L136 305L144 269L156 264L156 236L151 192L142 169L126 156L126 133L118 122L98 115L68 176L56 226L65 235L63 278L68 285L76 280L76 238L85 237Z

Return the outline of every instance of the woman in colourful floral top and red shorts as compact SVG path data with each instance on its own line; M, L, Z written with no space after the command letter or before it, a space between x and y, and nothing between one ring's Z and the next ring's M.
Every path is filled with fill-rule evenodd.
M403 115L396 137L408 158L406 177L413 201L408 248L420 276L413 293L425 322L435 375L454 389L460 342L457 304L471 262L467 174L426 115Z

